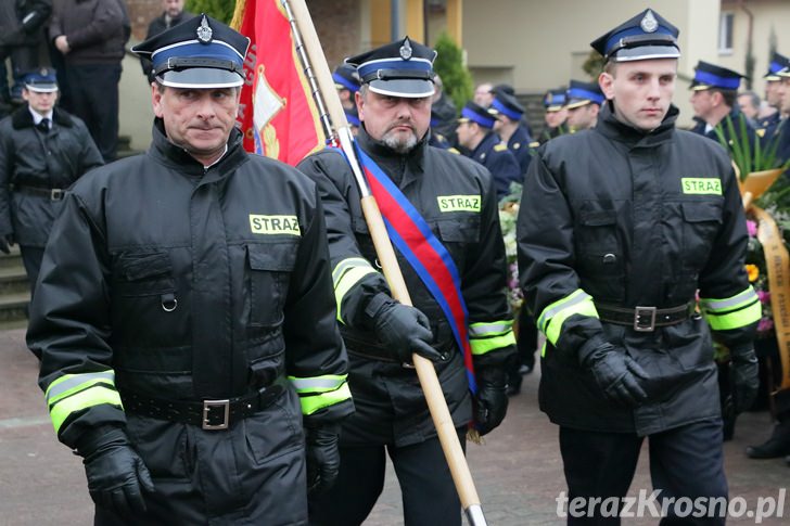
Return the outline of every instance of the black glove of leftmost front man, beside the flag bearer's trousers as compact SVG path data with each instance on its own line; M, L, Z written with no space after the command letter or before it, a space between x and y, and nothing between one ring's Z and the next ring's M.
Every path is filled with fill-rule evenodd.
M340 425L305 426L307 492L321 493L334 485L340 471Z

